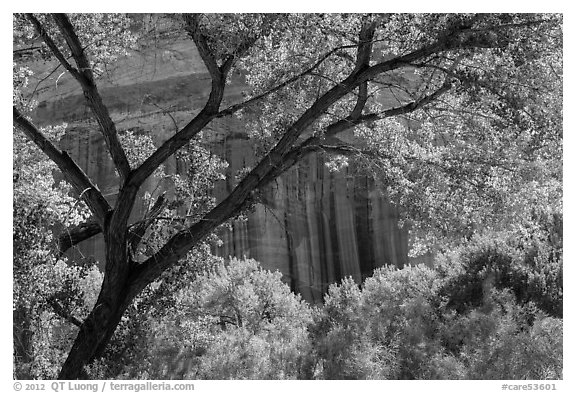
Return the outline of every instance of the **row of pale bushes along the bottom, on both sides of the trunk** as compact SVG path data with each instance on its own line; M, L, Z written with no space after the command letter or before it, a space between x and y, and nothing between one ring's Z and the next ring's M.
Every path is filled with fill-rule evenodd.
M135 302L88 375L562 379L562 260L549 245L516 246L475 239L440 255L436 269L383 267L362 286L351 278L333 284L319 306L256 261L224 264L206 255L203 271L171 292L170 308L166 297L150 302L153 293ZM52 269L74 283L88 276ZM54 378L71 332L54 310L35 313L38 344L28 363L16 363L17 372Z

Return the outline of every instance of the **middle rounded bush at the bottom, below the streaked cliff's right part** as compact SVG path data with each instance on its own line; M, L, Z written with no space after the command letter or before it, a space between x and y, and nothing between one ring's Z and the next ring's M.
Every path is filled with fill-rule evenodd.
M330 286L312 340L318 377L416 377L435 346L436 285L434 271L416 266L377 269L362 289L352 279Z

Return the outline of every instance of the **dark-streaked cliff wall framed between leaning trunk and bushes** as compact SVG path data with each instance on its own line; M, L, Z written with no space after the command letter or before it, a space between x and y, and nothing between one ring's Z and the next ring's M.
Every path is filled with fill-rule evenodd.
M231 169L251 150L245 140L223 146ZM352 276L358 282L384 263L407 262L407 233L397 211L353 168L330 172L320 155L309 156L260 196L248 219L222 231L222 256L250 257L279 270L305 299L320 301L330 283ZM219 184L225 195L228 184Z

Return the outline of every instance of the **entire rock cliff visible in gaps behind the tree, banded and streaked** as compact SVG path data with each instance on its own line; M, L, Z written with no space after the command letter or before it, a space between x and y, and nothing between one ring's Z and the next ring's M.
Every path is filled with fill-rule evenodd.
M153 64L146 52L122 60L111 78L100 83L118 129L152 130L158 144L198 111L209 91L208 76L191 42L173 42L161 54ZM49 68L36 65L42 67ZM116 174L82 94L67 76L58 84L58 89L40 95L33 119L41 126L69 124L61 147L114 203ZM237 99L241 87L233 83L227 99ZM232 174L254 160L250 141L238 127L230 119L207 132L213 152L230 164L231 176L216 185L217 198L230 191ZM354 175L353 168L330 172L323 160L321 155L307 157L264 190L247 220L220 233L223 245L214 252L254 258L265 268L281 271L286 282L312 302L321 301L327 286L343 277L360 281L375 267L407 263L408 235L397 227L396 209L369 179ZM139 209L136 206L135 216ZM80 244L76 252L103 260L101 237Z

